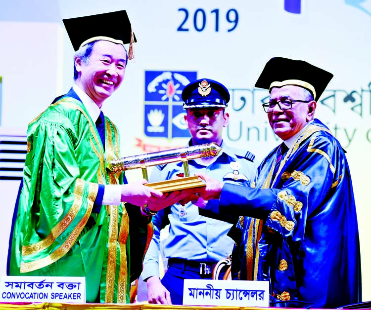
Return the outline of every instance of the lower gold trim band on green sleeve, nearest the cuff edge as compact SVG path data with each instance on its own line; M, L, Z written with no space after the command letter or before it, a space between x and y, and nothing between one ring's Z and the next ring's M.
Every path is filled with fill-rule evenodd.
M46 267L57 260L59 260L61 257L63 257L69 250L70 248L75 244L77 237L85 227L86 223L88 222L88 219L90 217L90 214L92 213L93 209L93 204L94 200L96 197L96 194L98 192L98 185L95 183L89 183L89 194L88 194L88 206L87 210L82 217L81 221L76 225L76 227L73 229L71 234L68 236L66 241L58 247L53 253L50 255L40 259L36 260L33 262L28 262L28 263L21 263L20 265L20 272L29 272L29 271L34 271L41 269L43 267ZM92 200L90 199L92 198Z

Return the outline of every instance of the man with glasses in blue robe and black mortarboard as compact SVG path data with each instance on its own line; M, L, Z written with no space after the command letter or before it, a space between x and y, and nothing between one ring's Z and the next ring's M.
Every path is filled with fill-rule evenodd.
M271 59L255 86L270 91L263 108L283 143L260 164L255 189L202 176L207 187L200 194L209 200L199 199L202 208L244 216L237 224L234 278L270 281L272 306L335 308L362 300L348 162L314 118L332 76L304 61Z

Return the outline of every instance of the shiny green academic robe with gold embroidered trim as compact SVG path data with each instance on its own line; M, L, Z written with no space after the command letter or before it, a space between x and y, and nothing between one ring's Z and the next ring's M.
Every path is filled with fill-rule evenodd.
M129 302L152 224L130 204L92 212L98 184L124 182L123 173L105 169L120 157L119 140L105 117L104 151L84 105L68 96L29 124L10 275L84 276L87 302Z

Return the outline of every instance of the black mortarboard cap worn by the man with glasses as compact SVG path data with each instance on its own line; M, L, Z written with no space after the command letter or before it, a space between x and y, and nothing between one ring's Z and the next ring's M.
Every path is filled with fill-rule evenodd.
M275 57L267 62L255 87L271 92L273 87L296 85L308 89L317 101L332 77L332 73L306 61Z

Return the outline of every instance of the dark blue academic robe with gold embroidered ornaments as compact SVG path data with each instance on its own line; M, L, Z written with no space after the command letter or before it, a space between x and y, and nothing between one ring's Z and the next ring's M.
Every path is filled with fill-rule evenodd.
M233 233L238 235L233 277L270 281L277 307L361 302L356 206L344 151L317 119L306 125L274 175L277 150L260 164L256 189L225 184L220 200L206 207L244 216L236 225L240 234Z

